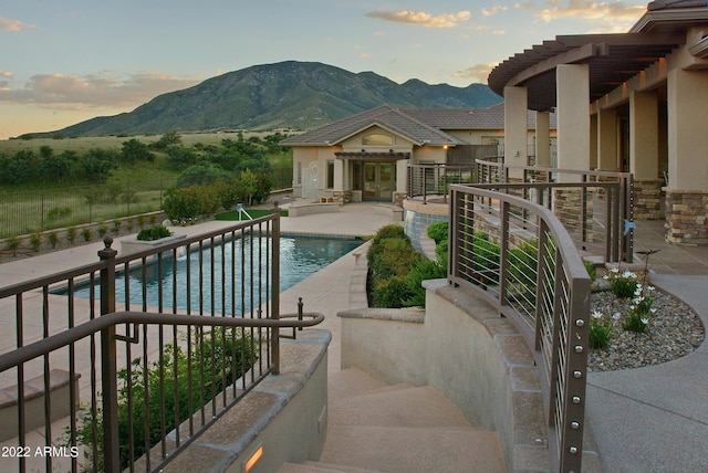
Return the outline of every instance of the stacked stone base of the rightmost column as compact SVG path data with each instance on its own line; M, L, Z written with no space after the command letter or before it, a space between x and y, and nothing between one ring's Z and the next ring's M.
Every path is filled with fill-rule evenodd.
M708 192L666 190L666 240L685 245L708 245Z

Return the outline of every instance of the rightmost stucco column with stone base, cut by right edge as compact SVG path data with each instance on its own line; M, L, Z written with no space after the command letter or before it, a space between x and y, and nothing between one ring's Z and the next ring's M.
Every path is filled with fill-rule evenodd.
M708 72L668 72L666 239L708 245Z

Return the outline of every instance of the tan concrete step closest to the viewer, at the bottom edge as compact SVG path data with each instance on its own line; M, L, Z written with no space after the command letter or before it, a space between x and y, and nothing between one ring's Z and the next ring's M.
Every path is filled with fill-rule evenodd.
M470 428L330 425L320 461L388 473L506 472L497 433Z

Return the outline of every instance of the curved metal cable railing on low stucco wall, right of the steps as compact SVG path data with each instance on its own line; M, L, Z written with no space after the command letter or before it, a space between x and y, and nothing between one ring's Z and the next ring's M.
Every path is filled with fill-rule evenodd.
M448 280L523 335L542 378L553 471L581 471L590 276L548 209L479 187L450 189Z

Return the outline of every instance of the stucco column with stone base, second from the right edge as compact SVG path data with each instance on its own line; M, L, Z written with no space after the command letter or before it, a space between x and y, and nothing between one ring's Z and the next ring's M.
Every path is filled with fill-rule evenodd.
M629 94L629 172L634 174L634 218L663 219L659 179L659 112L655 92Z

